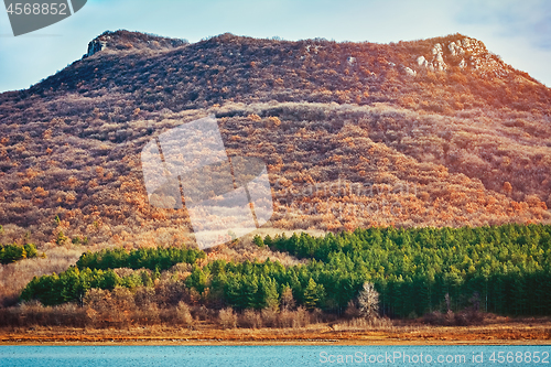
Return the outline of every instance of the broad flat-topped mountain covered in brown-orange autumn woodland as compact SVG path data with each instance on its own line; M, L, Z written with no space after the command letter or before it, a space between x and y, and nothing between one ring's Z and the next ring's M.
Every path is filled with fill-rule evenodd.
M266 227L551 222L551 90L478 40L117 31L0 95L0 239L192 241L185 211L149 205L140 152L209 115L229 155L266 162Z

